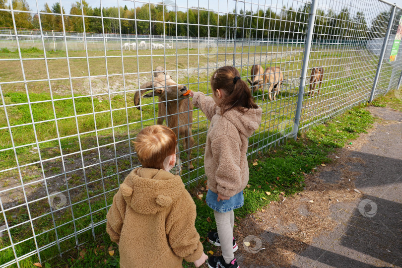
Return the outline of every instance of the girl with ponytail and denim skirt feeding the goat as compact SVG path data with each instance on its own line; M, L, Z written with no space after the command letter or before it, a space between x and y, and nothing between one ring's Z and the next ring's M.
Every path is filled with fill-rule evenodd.
M250 88L231 66L211 76L212 97L190 92L194 106L211 121L205 145L206 203L214 211L216 230L208 241L222 249L222 256L208 259L209 268L238 268L233 252L233 209L243 206L243 190L249 181L248 137L261 124L262 109L254 102Z

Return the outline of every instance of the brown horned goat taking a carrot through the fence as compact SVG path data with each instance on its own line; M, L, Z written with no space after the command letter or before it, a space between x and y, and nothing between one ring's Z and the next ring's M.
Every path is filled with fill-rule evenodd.
M157 123L162 125L163 121L166 120L166 125L173 130L177 138L184 137L183 147L187 151L188 167L189 169L194 169L191 161L191 148L194 145L194 138L191 136L193 103L189 100L189 95L183 95L187 92L187 86L177 84L165 69L160 66L155 68L153 75L153 83L152 80L148 81L140 86L139 91L135 92L134 104L138 110L142 110L139 106L141 96L143 98L152 98L153 96L159 98ZM144 94L149 90L153 91ZM176 146L176 153L178 152L179 143Z

